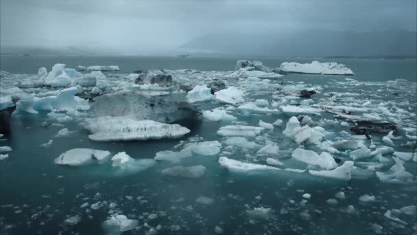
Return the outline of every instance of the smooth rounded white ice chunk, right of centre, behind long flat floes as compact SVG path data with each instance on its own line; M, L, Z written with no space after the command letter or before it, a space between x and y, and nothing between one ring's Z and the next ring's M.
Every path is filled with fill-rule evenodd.
M291 156L298 161L302 161L313 166L320 166L320 168L324 168L326 170L337 168L335 159L333 159L330 153L327 152L322 152L320 155L318 155L312 150L297 148L292 152Z

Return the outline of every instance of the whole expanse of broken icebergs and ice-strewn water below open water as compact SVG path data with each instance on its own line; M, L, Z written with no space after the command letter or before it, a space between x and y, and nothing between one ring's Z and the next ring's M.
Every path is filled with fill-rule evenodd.
M416 234L416 82L118 71L1 71L0 234Z

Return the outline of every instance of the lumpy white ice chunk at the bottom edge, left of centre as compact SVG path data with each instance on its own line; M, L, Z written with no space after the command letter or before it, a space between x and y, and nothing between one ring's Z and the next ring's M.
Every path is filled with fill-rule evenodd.
M128 219L123 214L111 216L110 219L103 222L103 228L106 234L121 234L129 230L134 230L139 225L139 221Z

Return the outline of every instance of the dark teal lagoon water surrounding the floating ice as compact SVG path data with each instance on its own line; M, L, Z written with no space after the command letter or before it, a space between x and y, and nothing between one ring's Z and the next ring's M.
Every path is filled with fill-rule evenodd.
M130 74L137 69L198 69L201 71L231 71L239 58L176 58L176 57L52 57L52 56L1 56L0 70L12 74L36 74L39 67L49 70L55 63L65 63L67 67L77 65L119 65L121 71L111 74ZM246 58L261 60L267 67L279 67L285 61L299 63L311 62L311 58ZM318 58L322 62L328 59ZM274 80L283 86L292 86L294 82L307 85L320 85L322 90L313 96L315 103L321 104L328 98L326 93L344 93L340 105L364 104L370 100L372 112L383 115L382 107L387 103L394 113L407 110L408 117L402 121L408 126L416 124L416 60L374 60L374 59L331 59L343 63L355 71L355 76L322 76L306 74L289 74ZM21 76L19 76L21 78ZM123 76L117 75L120 79ZM356 79L350 82L345 78ZM388 82L403 78L408 82ZM350 93L347 94L347 93ZM352 95L355 93L357 95ZM183 94L184 96L184 94ZM271 104L274 98L269 93L248 95L246 100L263 98ZM199 103L202 110L222 107L215 102ZM357 105L361 107L361 105ZM379 112L379 110L381 112ZM371 112L371 111L370 111ZM281 150L293 150L297 145L283 135L285 123L290 115L254 114L242 115L238 110L231 110L241 122L258 126L259 120L272 123L283 120L283 126L276 126L273 131L263 135L278 144ZM361 115L361 112L353 113ZM387 115L386 118L388 118ZM385 117L385 116L383 116ZM320 116L311 115L314 122L326 131L331 131L334 139L342 137L355 139L350 126L335 120L330 113ZM109 150L112 154L125 151L135 159L152 159L162 150L176 150L180 141L189 142L189 137L202 137L206 141L224 139L216 134L221 126L228 122L182 123L191 129L191 133L180 139L129 142L93 142L88 139L88 132L78 121L61 123L63 126L41 124L48 120L47 113L38 115L14 115L12 118L12 135L2 139L1 146L10 146L9 157L0 161L0 234L106 234L102 223L111 214L119 213L129 219L139 221L139 225L123 234L416 234L416 214L407 214L400 209L417 205L416 179L417 163L405 162L407 172L411 173L412 183L384 183L372 170L357 170L352 179L339 181L324 177L314 177L307 172L261 171L235 173L219 166L218 159L231 152L228 157L239 161L265 164L265 156L246 148L228 148L222 146L222 152L214 156L194 155L183 159L180 165L202 165L207 168L204 177L185 179L167 177L161 170L174 166L165 161L158 161L156 166L139 172L115 170L110 163L78 167L54 164L61 153L71 148L94 148ZM51 122L49 120L49 122ZM53 121L52 121L53 122ZM55 122L58 123L58 122ZM74 131L72 135L54 137L62 128ZM345 132L345 133L344 133ZM406 133L402 129L395 135L394 150L414 153L416 147L401 146L406 142ZM384 146L381 138L385 134L372 135L377 147ZM346 137L347 136L347 137ZM329 137L330 138L330 137ZM40 145L53 139L49 148ZM250 141L265 145L262 138ZM371 142L364 139L364 144ZM312 149L315 147L312 146ZM180 148L179 148L180 149ZM178 150L178 149L177 149ZM315 149L318 153L317 149ZM335 154L335 157L348 160L348 154ZM383 154L389 159L379 169L388 171L393 164L392 153ZM280 156L287 168L308 169L306 164L291 159L290 155ZM364 160L373 162L374 159ZM357 164L355 162L355 164ZM359 166L359 165L357 165ZM337 192L344 192L346 198L339 199ZM310 199L302 195L311 194ZM363 195L374 196L373 200L364 201ZM198 203L199 197L213 199L210 205ZM337 203L328 201L336 199ZM84 204L88 203L88 205ZM94 203L98 210L91 209ZM110 203L116 203L110 207ZM84 205L83 205L84 204ZM270 208L270 212L260 215L251 214L254 208ZM354 209L352 209L354 208ZM415 210L415 208L414 208ZM390 216L384 216L390 211ZM152 215L152 216L150 216ZM80 216L80 222L70 225L64 221L71 216ZM379 228L382 227L382 228ZM153 229L152 229L153 228Z

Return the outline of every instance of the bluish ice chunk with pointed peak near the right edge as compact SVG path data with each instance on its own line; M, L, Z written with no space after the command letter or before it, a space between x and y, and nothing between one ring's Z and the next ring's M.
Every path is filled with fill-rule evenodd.
M383 183L413 183L414 176L407 172L403 160L393 157L395 164L386 172L376 172L377 177Z

